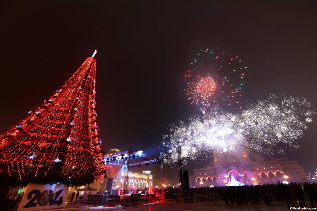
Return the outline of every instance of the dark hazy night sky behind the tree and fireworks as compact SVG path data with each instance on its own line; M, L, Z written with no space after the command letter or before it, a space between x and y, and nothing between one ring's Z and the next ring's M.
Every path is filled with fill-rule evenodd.
M197 112L186 101L183 73L205 48L239 52L249 69L245 100L304 96L317 109L316 1L1 1L0 28L0 133L95 48L105 151L132 142L135 151L159 155L168 125ZM317 168L313 119L299 149L275 156L297 160L307 173ZM202 159L195 167L206 166ZM193 174L192 163L185 167ZM166 177L176 172L165 165Z

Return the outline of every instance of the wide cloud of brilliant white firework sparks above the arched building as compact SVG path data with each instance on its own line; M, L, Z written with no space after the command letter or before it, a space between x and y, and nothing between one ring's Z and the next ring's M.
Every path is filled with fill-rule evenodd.
M191 116L188 121L172 124L164 135L165 162L177 162L177 147L182 146L182 157L202 161L211 153L221 155L241 152L283 154L298 147L314 110L305 98L276 96L247 102L246 108L233 114L220 107L210 107L205 114Z

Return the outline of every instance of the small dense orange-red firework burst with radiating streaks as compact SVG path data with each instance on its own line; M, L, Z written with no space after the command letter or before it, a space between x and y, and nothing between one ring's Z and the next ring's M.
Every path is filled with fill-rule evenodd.
M198 78L196 82L188 82L187 86L188 88L185 90L185 94L189 95L187 100L203 106L208 103L208 97L213 96L216 88L215 82L211 77Z

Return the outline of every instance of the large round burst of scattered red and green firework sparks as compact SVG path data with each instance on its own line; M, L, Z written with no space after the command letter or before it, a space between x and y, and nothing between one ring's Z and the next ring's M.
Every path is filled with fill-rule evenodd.
M246 65L242 60L228 50L216 47L215 50L202 50L197 58L191 62L191 68L184 75L187 82L187 90L190 90L190 83L196 82L197 78L213 78L215 88L212 93L203 99L204 107L217 105L225 109L242 108L240 97L244 83ZM186 94L187 94L186 90ZM194 96L194 94L191 94ZM200 98L202 99L202 98ZM192 101L192 98L188 98ZM192 101L193 102L193 101ZM202 102L202 101L200 101Z

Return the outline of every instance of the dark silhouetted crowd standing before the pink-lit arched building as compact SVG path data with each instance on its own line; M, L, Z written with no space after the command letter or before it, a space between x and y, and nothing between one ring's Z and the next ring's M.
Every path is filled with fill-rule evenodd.
M198 187L191 188L191 194L218 193L226 204L259 204L262 199L266 204L273 200L285 200L288 208L295 207L294 201L299 201L300 206L308 207L305 201L310 201L311 207L317 207L317 184L315 183L290 183L265 184L255 186L231 187ZM308 200L307 200L308 199Z

